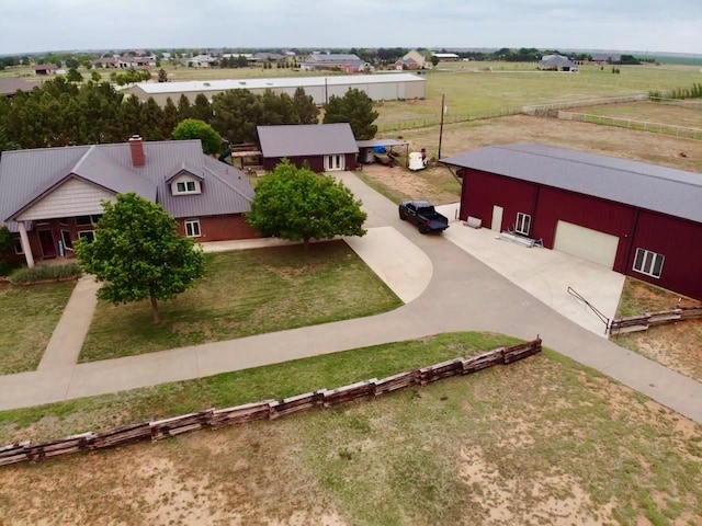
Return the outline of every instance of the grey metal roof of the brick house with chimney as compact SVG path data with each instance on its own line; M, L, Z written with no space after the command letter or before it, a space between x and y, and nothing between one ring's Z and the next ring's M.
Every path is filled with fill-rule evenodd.
M114 193L135 192L161 203L173 217L250 210L253 188L240 170L202 152L200 140L143 142L146 163L132 165L129 144L5 151L0 158L0 222L11 220L71 176ZM167 180L186 167L202 181L202 194L171 194Z

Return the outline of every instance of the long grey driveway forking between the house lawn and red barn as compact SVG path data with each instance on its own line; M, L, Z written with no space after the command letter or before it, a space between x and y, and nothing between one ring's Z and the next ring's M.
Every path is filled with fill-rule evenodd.
M702 422L702 384L569 321L443 236L422 236L399 221L396 205L353 174L342 173L340 179L362 199L369 225L394 227L431 261L429 286L417 299L369 318L0 377L0 409L200 378L441 332L492 331L522 339L541 335L546 346Z

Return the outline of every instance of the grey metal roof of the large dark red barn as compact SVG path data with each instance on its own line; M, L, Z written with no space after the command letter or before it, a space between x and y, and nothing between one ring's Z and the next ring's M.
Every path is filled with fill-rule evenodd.
M702 174L540 145L490 146L442 163L702 222Z

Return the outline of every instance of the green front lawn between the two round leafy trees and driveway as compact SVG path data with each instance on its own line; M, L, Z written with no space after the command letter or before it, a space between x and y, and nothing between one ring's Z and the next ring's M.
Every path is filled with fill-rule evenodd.
M160 304L99 304L81 362L376 315L401 301L343 241L207 255L207 276Z

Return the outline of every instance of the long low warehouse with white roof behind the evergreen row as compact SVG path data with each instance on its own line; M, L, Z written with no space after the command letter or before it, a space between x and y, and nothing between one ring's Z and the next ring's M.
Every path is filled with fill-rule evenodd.
M141 82L126 90L143 101L148 98L166 104L170 96L178 102L185 95L194 102L199 94L212 99L217 93L229 90L249 90L263 94L265 90L274 93L287 93L293 96L297 88L304 88L316 104L325 104L331 95L343 96L350 88L365 92L374 101L395 101L399 99L423 99L427 96L427 79L411 73L344 75L330 77L295 77L272 79L229 79L190 82Z

